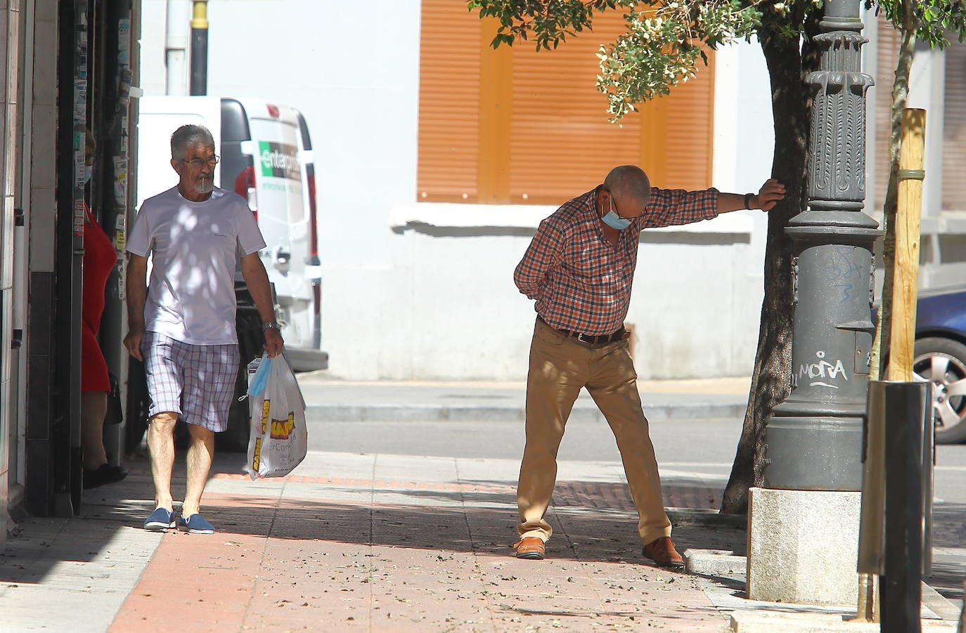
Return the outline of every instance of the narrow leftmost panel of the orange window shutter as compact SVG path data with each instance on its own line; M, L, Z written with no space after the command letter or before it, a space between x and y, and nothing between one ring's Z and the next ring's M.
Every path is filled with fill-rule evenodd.
M475 202L480 20L464 2L423 0L420 40L416 200Z

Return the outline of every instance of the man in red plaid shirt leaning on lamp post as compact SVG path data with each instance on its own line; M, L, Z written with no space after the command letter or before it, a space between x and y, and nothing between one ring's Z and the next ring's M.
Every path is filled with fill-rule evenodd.
M543 559L552 529L544 515L556 480L556 452L582 387L611 425L638 509L643 555L684 566L670 521L624 329L641 229L688 224L743 208L769 210L784 185L757 195L651 187L637 166L615 167L604 183L540 223L513 279L536 301L526 379L526 448L520 466L517 557Z

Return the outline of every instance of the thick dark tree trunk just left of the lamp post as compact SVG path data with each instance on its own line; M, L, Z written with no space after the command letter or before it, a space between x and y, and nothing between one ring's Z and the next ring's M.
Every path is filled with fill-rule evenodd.
M815 12L810 16L807 34L809 30L817 30L820 13ZM795 23L793 19L784 23L789 22ZM748 489L760 484L764 470L762 448L765 425L775 407L787 398L791 385L792 244L784 229L788 220L804 211L808 203L806 175L811 93L805 76L817 68L817 57L815 47L808 43L810 37L800 48L799 39L782 36L780 26L777 21L762 24L758 40L768 65L772 87L772 116L775 122L772 177L785 184L785 199L768 213L764 300L761 304L761 326L752 387L721 509L731 514L748 511Z

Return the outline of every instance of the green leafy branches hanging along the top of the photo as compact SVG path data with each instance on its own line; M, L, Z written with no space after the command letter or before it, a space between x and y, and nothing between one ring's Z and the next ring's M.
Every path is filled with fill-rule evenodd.
M866 0L899 28L903 0ZM627 32L601 46L597 89L608 99L608 113L618 122L636 104L667 95L694 77L706 49L749 40L763 23L787 40L802 37L803 24L822 0L468 0L470 12L495 17L492 41L513 45L533 41L537 50L556 48L568 37L593 27L594 14L625 13ZM918 36L931 46L949 45L947 34L966 38L966 0L914 2Z

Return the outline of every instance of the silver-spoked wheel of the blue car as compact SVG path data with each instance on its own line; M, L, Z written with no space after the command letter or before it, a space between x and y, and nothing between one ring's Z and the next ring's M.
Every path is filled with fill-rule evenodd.
M915 380L932 383L936 443L966 440L966 345L930 337L916 342Z

